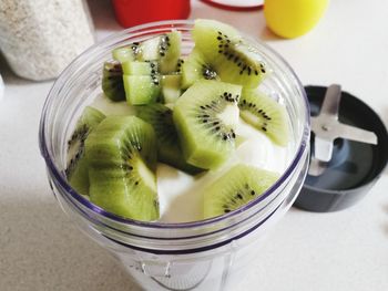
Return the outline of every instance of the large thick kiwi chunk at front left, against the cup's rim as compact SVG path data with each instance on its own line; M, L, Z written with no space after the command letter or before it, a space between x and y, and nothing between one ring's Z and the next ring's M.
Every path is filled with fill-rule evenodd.
M109 116L85 142L90 199L115 215L159 219L156 139L152 126L135 116Z

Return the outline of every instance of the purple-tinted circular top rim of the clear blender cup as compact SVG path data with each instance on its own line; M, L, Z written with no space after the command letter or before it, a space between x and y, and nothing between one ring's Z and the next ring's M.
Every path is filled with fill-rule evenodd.
M149 28L155 28L155 27L161 27L161 28L165 28L165 29L173 29L175 28L175 25L190 25L190 24L194 24L194 21L190 20L167 20L167 21L157 21L157 22L150 22L146 24L142 24L142 25L136 25L130 29L125 29L122 32L119 33L114 33L105 39L103 39L102 41L95 43L94 45L90 46L86 51L84 51L82 54L80 54L78 58L75 58L69 65L68 67L61 73L61 75L57 79L57 81L54 82L53 86L51 87L49 95L44 102L43 105L43 110L42 110L42 115L41 115L41 119L40 119L40 127L39 127L39 146L40 146L40 150L41 150L41 155L43 156L47 166L49 167L49 170L52 173L53 177L57 179L57 181L60 184L60 186L65 190L67 194L70 194L72 198L74 198L75 200L78 200L81 205L83 205L84 207L91 209L92 211L115 220L118 222L124 222L126 225L132 225L132 226L140 226L140 227L144 227L144 228L153 228L153 229L183 229L183 228L195 228L195 227L202 227L202 226L207 226L214 222L218 222L228 218L232 218L241 212L246 211L247 209L254 207L255 205L257 205L258 202L261 202L262 200L264 200L265 198L267 198L268 196L270 196L270 194L274 193L274 190L276 190L287 178L288 176L293 173L294 168L297 166L297 164L299 163L300 158L303 157L304 152L306 150L307 144L309 143L308 141L308 136L309 136L309 127L310 127L310 121L309 121L309 105L308 105L308 100L307 100L307 94L305 92L305 89L302 84L302 82L299 81L299 79L297 77L297 75L295 74L294 70L290 67L290 65L283 59L283 56L280 56L276 51L274 51L273 49L270 49L267 44L265 44L264 42L259 41L261 45L263 45L264 48L266 48L268 51L270 51L280 62L283 62L283 64L286 66L286 69L289 71L290 75L294 76L294 79L296 80L296 83L298 84L298 86L300 87L302 94L303 94L303 101L305 103L305 115L306 115L306 121L304 124L304 131L302 134L302 138L298 143L298 149L297 153L294 157L294 159L292 160L292 163L289 164L289 166L287 167L287 169L284 172L284 174L280 176L280 178L268 189L266 190L261 197L258 197L255 200L252 200L251 202L246 204L245 206L231 211L228 214L225 214L223 216L218 216L218 217L214 217L214 218L210 218L210 219L205 219L205 220L198 220L198 221L192 221L192 222L177 222L177 224L166 224L166 222L150 222L150 221L140 221L140 220L134 220L134 219L130 219L130 218L124 218L118 215L114 215L112 212L105 211L104 209L102 209L99 206L95 206L94 204L92 204L90 200L88 200L86 198L82 197L82 195L78 194L73 188L71 188L71 186L68 184L67 179L63 176L63 173L61 173L61 170L57 167L57 165L53 163L52 156L49 153L48 146L47 146L47 141L45 141L45 132L44 132L44 127L45 127L45 114L49 107L49 103L50 103L50 97L52 94L53 89L55 87L55 85L58 84L58 82L61 80L61 77L63 76L64 72L67 72L69 70L69 67L72 66L72 64L74 62L76 62L79 59L84 58L84 55L86 55L91 50L93 50L94 48L101 45L101 43L111 41L112 39L116 39L120 35L129 35L131 32L135 32L135 31L140 31L140 30L146 30ZM178 28L177 28L178 29ZM256 40L257 41L257 40Z

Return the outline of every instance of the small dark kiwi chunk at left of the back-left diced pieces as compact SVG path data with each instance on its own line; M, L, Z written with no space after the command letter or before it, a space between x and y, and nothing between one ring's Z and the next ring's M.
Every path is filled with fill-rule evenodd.
M119 62L105 62L102 71L102 91L112 101L124 101L123 70Z

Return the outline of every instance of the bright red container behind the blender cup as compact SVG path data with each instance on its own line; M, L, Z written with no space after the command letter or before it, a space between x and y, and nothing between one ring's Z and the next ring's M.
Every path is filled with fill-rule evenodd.
M146 22L187 19L190 0L112 0L115 17L124 28Z

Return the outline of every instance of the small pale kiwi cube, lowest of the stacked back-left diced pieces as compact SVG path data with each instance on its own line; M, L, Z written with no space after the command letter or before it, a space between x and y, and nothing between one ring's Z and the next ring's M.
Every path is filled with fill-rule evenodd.
M130 105L155 103L161 93L157 75L123 75L126 101Z

